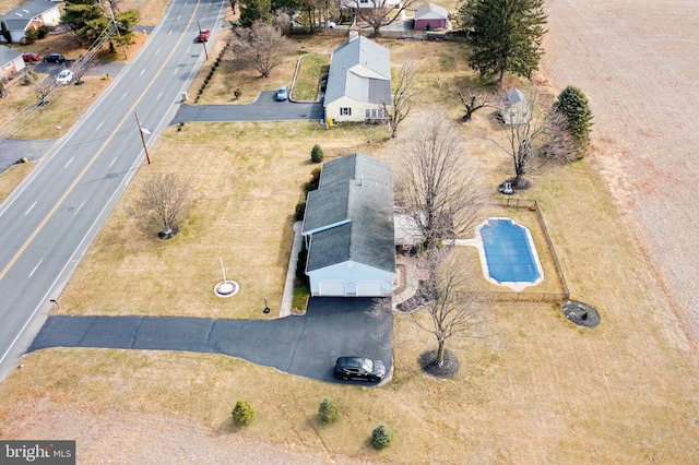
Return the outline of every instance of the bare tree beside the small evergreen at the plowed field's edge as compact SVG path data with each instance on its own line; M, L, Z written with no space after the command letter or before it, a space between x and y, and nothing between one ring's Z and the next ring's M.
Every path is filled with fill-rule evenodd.
M565 129L564 116L552 109L550 105L542 103L536 88L532 87L528 94L529 111L511 115L512 123L507 126L508 144L494 141L512 158L512 188L520 186L526 174L541 172L578 156L573 141Z

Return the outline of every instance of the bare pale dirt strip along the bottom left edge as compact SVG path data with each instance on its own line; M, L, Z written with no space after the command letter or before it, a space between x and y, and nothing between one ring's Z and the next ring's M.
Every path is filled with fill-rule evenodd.
M190 421L149 414L56 410L50 405L32 406L31 415L13 422L21 436L3 438L76 439L79 464L169 465L311 465L369 464L295 444L271 444L233 431L211 431ZM60 438L57 437L60 431Z

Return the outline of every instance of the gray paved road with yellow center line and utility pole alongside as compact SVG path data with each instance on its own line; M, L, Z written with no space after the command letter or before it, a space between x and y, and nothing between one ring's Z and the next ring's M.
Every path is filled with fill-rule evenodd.
M197 21L222 0L174 0L146 45L0 210L0 380L28 347L203 62ZM215 37L213 37L215 38ZM212 39L213 39L212 38ZM70 86L62 92L70 92ZM60 124L60 121L57 121ZM155 163L157 163L155 160Z

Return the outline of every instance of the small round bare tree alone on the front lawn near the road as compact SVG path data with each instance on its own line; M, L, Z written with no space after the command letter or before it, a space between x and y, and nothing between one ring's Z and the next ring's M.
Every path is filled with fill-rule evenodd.
M127 214L158 228L161 239L169 239L179 231L179 223L191 205L191 186L186 179L168 172L149 177L141 187L141 196Z

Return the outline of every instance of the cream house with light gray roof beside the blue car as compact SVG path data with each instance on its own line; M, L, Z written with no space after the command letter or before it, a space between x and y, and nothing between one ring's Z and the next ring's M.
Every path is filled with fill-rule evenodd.
M389 49L355 33L332 53L323 100L325 121L382 119L383 104L391 107Z

